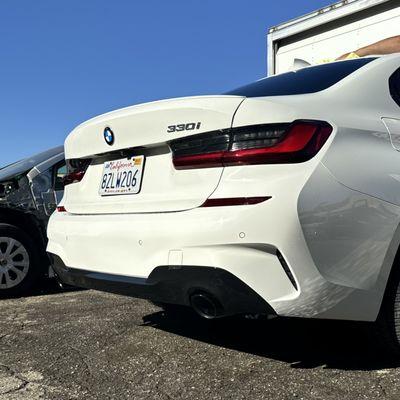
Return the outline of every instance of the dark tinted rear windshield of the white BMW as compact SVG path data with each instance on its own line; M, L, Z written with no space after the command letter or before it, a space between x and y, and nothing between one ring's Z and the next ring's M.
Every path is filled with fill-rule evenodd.
M260 79L249 85L231 90L225 94L245 97L286 96L292 94L315 93L338 83L346 76L375 60L375 57L357 58L306 67L298 71L286 72Z

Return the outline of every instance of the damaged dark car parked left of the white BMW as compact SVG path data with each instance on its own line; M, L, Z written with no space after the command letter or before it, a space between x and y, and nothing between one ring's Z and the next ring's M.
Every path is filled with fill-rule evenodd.
M46 227L65 175L62 146L0 168L0 297L24 295L52 275Z

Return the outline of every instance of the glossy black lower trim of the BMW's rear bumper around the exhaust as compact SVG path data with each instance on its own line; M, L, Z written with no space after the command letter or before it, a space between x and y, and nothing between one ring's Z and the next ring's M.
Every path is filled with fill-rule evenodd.
M58 278L67 285L184 306L191 305L193 294L206 293L218 303L218 317L275 314L254 290L220 268L160 266L148 278L136 278L69 268L60 257L50 257Z

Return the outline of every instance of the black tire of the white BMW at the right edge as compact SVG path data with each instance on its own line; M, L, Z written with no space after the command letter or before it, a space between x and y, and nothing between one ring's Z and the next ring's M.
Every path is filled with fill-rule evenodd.
M389 279L375 323L375 335L387 356L400 358L400 273L397 270Z

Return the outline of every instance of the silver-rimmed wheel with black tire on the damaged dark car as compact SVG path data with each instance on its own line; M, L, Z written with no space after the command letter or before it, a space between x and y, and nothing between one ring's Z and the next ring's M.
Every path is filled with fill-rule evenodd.
M33 241L20 228L0 224L0 297L27 293L39 277Z

